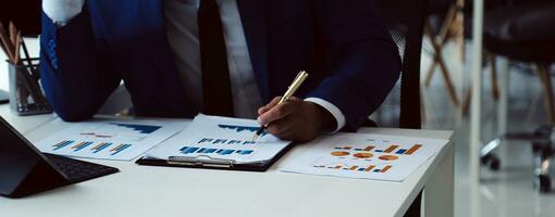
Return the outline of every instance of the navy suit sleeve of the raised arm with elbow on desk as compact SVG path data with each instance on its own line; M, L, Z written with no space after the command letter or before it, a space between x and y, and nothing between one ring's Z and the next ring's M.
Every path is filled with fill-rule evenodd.
M111 72L111 59L99 41L86 9L63 27L42 13L41 84L55 113L64 120L95 115L121 81L121 75Z

